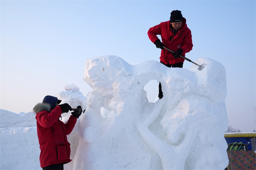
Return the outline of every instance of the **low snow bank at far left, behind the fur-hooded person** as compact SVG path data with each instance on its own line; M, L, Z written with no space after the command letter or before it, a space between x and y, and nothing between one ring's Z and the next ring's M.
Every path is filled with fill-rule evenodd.
M34 112L0 109L0 169L39 169L39 143Z

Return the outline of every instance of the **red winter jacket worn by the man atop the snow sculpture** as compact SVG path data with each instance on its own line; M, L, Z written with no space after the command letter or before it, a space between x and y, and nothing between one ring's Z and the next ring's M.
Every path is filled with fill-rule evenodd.
M164 43L165 47L173 51L177 51L179 48L181 48L183 50L182 56L185 57L185 53L192 50L193 47L192 35L190 29L187 27L186 19L183 18L180 30L178 30L175 35L173 35L170 26L170 21L161 22L159 25L149 28L148 37L153 43L155 43L156 40L158 40L156 35L161 35L162 43ZM172 56L172 52L168 50L165 50L164 52L164 50L161 50L160 61L162 61L164 64L175 64L184 62L184 59L181 57L174 58Z

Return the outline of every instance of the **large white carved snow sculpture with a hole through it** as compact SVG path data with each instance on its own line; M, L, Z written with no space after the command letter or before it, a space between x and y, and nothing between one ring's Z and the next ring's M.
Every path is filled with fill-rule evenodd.
M207 66L86 60L84 81L92 91L79 120L73 169L225 169L225 68L209 58L196 63ZM150 80L162 84L164 97L156 103L143 90Z

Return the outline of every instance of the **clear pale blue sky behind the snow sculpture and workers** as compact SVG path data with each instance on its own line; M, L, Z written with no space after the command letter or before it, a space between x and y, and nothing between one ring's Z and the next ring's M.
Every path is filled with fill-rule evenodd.
M159 61L147 32L180 10L192 32L192 61L226 68L229 124L255 128L256 1L4 1L1 0L0 108L30 112L46 95L74 83L85 95L85 60L116 55L129 64ZM186 61L183 68L193 64ZM151 88L158 91L157 83ZM148 90L147 90L148 91Z

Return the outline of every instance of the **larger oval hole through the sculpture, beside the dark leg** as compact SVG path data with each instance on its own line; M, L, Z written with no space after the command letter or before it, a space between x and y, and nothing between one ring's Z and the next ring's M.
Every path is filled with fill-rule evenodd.
M155 103L158 100L158 92L159 92L158 85L159 83L156 80L150 80L148 81L146 86L144 86L144 90L147 92L148 102Z

